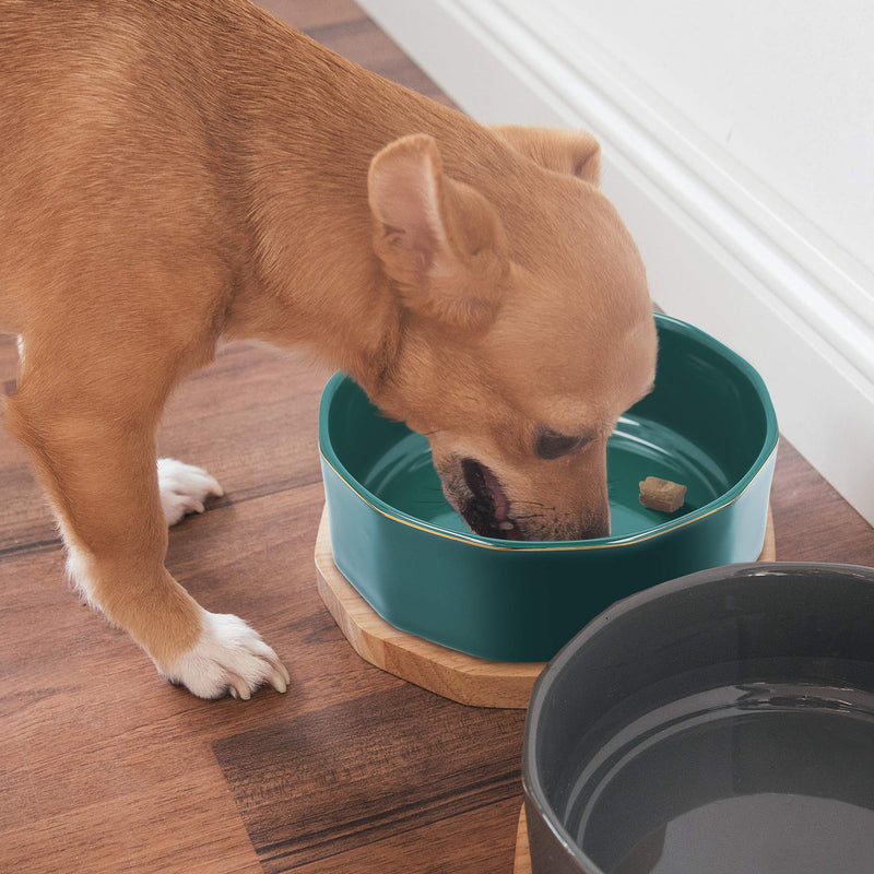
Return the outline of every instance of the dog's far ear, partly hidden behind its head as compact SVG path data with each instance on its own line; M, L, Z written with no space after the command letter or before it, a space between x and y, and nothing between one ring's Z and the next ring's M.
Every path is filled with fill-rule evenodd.
M496 125L492 130L546 169L576 176L594 186L601 178L601 145L584 130L517 125Z

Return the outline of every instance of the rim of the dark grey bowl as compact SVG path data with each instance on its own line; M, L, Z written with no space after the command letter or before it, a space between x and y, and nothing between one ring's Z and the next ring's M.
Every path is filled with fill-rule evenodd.
M611 604L611 606L595 616L582 630L565 643L540 673L531 690L528 712L525 713L524 737L522 742L522 788L524 790L525 802L533 804L541 819L552 831L556 840L587 874L606 873L576 845L567 829L558 822L558 817L546 800L540 780L538 779L539 771L534 751L534 737L538 731L543 699L548 694L555 676L583 643L601 634L604 627L617 616L639 610L651 601L719 580L734 579L737 577L753 578L799 572L808 574L811 571L857 576L874 583L874 568L865 567L864 565L845 565L829 562L754 562L707 568L706 570L699 570L695 574L688 574L685 577L660 582L657 586L643 589L640 592L636 592L635 594L628 595L628 598L624 598Z

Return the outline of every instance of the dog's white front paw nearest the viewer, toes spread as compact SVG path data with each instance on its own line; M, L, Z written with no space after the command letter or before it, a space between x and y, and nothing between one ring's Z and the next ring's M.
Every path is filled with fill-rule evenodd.
M255 628L229 613L204 610L201 617L203 630L198 642L168 669L158 665L170 683L185 686L199 698L221 698L229 693L243 700L265 683L276 692L288 688L288 672Z

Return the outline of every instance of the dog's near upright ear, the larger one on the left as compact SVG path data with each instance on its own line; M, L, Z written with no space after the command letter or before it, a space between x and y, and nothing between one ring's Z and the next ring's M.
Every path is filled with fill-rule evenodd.
M437 142L415 134L370 163L374 248L411 309L456 329L486 326L506 272L506 238L491 203L442 169Z

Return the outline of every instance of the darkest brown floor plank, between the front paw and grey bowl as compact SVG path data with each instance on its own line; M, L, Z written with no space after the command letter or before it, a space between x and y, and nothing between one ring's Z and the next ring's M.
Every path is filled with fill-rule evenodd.
M401 684L213 749L264 871L279 872L518 799L523 721Z

